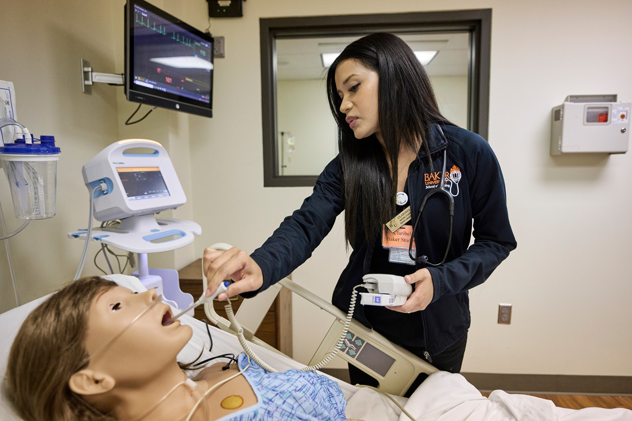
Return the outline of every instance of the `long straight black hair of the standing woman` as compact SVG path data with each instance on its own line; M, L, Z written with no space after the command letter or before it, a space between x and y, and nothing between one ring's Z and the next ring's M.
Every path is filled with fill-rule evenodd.
M347 59L355 59L378 75L378 124L384 148L375 134L356 139L340 111L342 100L335 75L337 66ZM405 145L417 151L421 143L430 160L425 141L430 127L435 122L452 123L441 115L422 64L392 33L372 33L347 45L327 72L327 97L338 125L346 210L344 237L355 246L358 223L362 222L365 239L372 242L382 232L382 224L394 216L399 150Z

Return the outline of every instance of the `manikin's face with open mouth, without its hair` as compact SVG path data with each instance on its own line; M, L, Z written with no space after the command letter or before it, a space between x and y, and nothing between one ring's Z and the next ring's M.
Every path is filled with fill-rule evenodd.
M162 302L155 304L105 348L99 349L147 309L155 297L153 289L134 294L123 287L97 294L90 305L85 340L91 367L104 369L120 380L130 376L141 379L159 367L173 364L192 331L188 326L180 326L179 321L162 326L162 322L171 317L169 305Z

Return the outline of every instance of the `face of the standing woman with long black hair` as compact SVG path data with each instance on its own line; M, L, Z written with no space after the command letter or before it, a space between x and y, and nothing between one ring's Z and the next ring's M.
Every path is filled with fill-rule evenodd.
M380 139L377 114L377 73L365 68L355 59L338 64L334 77L336 90L342 100L340 111L356 139L376 134Z

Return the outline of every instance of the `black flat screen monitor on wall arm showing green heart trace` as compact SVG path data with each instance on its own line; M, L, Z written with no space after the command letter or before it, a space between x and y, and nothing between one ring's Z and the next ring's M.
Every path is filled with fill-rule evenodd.
M125 5L125 90L141 104L212 117L213 38L143 0Z

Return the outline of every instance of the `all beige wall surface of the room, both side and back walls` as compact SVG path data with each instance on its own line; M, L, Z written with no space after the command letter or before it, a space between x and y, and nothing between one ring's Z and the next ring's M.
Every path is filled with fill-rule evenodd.
M120 88L95 86L88 97L76 76L80 57L99 71L121 71L123 1L91 2L90 11L82 11L79 0L23 3L3 8L3 28L16 36L3 44L12 60L0 61L0 78L15 83L20 119L33 133L56 135L63 150L58 215L10 240L25 299L74 274L82 244L66 239L66 232L87 217L80 169L119 137L150 137L167 146L190 200L177 212L202 225L193 251L170 254L162 267L183 266L213 242L252 251L310 194L306 187L263 187L259 18L492 8L489 142L504 170L518 249L471 291L463 370L632 376L632 154L549 156L550 109L566 95L632 98L625 77L632 57L619 47L632 42L629 31L620 30L628 27L629 1L595 8L581 0L571 9L544 0L250 0L243 18L212 21L211 32L226 37L226 58L216 60L214 117L155 110L147 124L131 127L120 126L135 107ZM155 4L207 27L205 1ZM21 15L30 25L14 23ZM613 28L619 28L616 37ZM295 271L297 282L326 299L346 262L339 222ZM13 306L5 260L0 311ZM499 302L514 305L510 326L496 324ZM327 319L323 312L312 307L295 300L295 356L303 362L328 327L319 323Z

